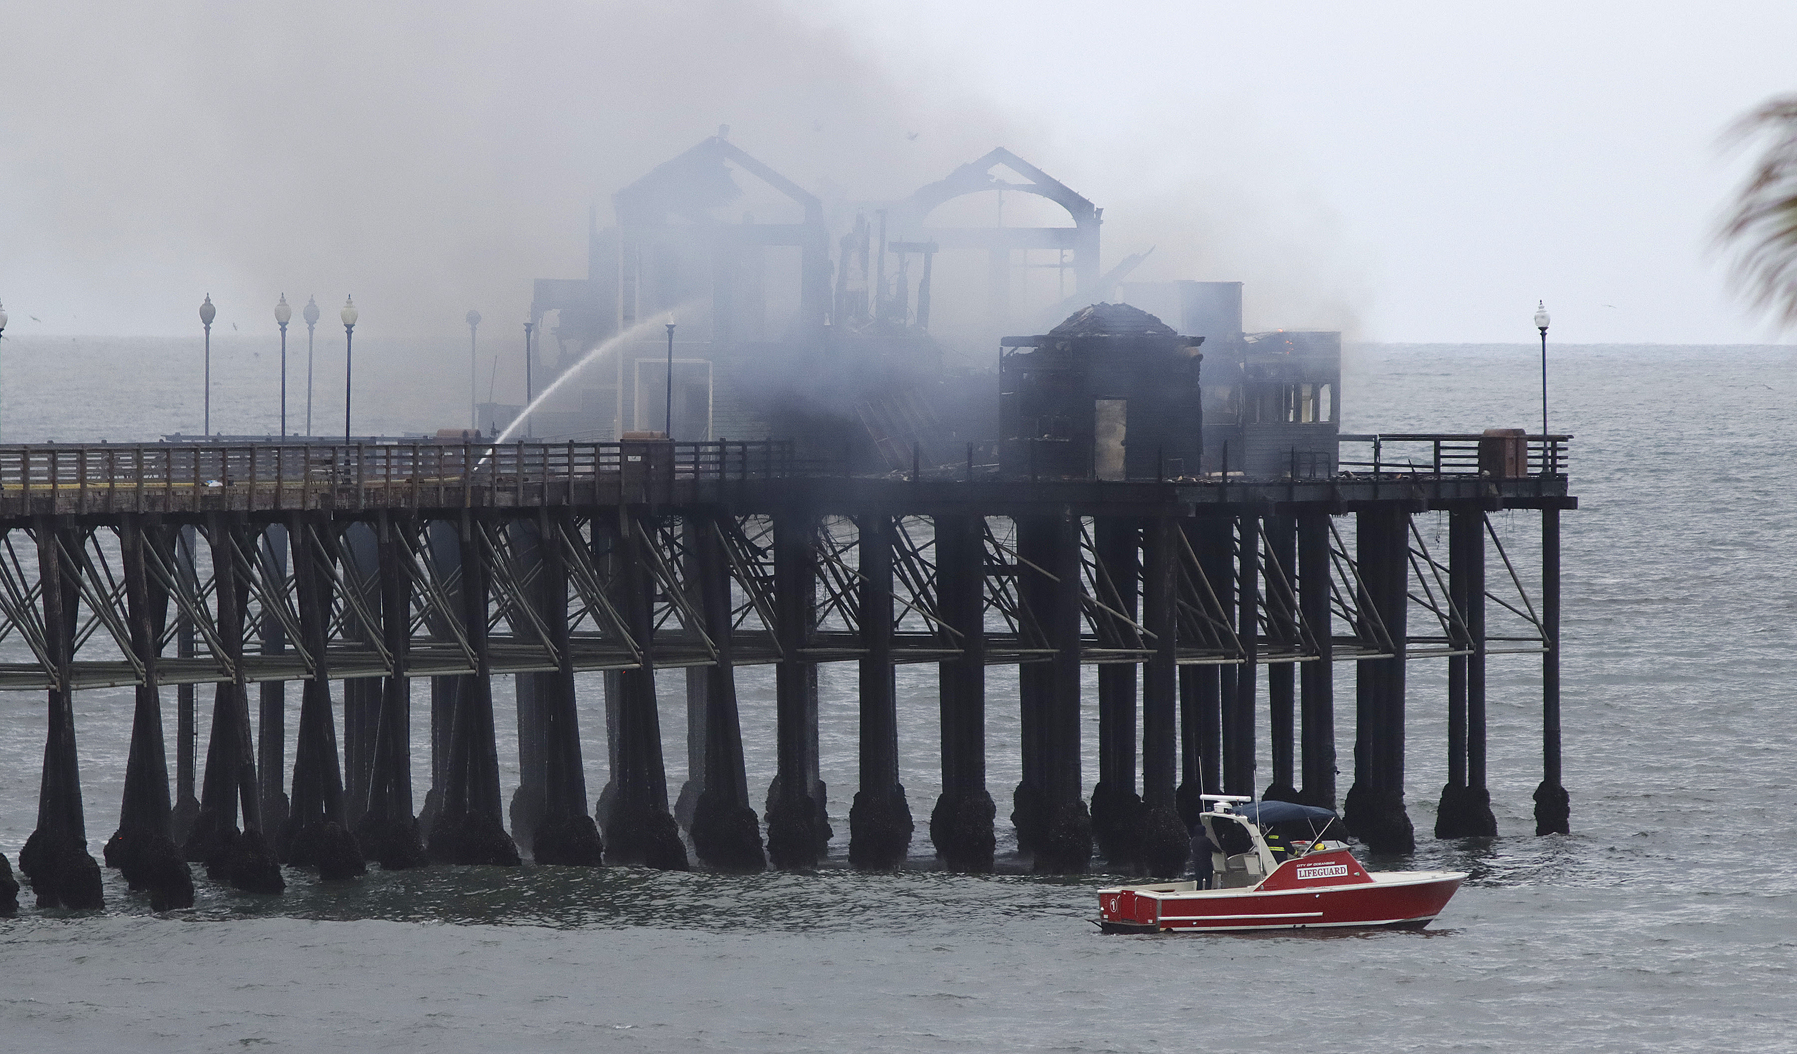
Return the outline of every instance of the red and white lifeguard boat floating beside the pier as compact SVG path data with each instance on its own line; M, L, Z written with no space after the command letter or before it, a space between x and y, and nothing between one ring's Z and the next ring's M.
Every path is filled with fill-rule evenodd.
M1337 817L1326 808L1215 794L1204 801L1211 806L1199 822L1211 867L1200 862L1193 882L1100 889L1103 932L1421 928L1466 878L1465 871L1368 871L1346 844L1328 839ZM1294 826L1310 837L1279 835Z

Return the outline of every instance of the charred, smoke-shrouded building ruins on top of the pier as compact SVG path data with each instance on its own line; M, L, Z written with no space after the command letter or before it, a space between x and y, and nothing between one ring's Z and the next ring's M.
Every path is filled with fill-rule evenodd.
M985 192L990 221L945 208ZM1066 221L1006 223L1006 196ZM1148 253L1102 269L1103 210L1010 151L857 203L800 187L726 127L618 190L613 214L589 217L586 278L536 282L536 390L579 370L532 411L537 438L780 436L857 472L1333 467L1337 334L1245 334L1238 282L1125 282ZM931 329L943 307L954 341ZM1019 321L1055 329L997 339ZM483 426L516 411L489 406Z

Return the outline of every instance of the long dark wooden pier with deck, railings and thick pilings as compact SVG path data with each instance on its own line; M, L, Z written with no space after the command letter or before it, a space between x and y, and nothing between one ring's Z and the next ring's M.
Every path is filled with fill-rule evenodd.
M1569 438L1342 436L1323 474L1294 456L1283 476L1226 465L1127 479L1001 478L972 456L848 476L782 442L0 447L0 688L49 700L22 864L43 903L97 903L72 693L135 686L106 855L164 903L181 901L169 846L264 891L280 885L277 862L341 876L363 860L514 864L519 848L537 862L686 867L656 706L658 672L681 670L697 785L681 819L699 860L805 869L830 842L819 663L859 664L857 867L898 865L915 837L893 668L916 663L940 670L943 792L929 839L947 867L992 867L994 666L1017 666L1010 817L1039 871L1085 871L1096 851L1112 869L1179 873L1204 792L1341 797L1359 839L1411 849L1405 670L1427 659L1448 663L1450 779L1434 833L1492 835L1484 672L1500 652L1542 657L1536 821L1565 831ZM1527 576L1490 517L1500 510L1540 512ZM1436 512L1448 521L1441 553L1414 523ZM1522 630L1492 636L1488 600ZM1355 668L1341 684L1353 686L1357 733L1339 795L1342 663ZM776 668L778 774L760 803L733 673L751 664ZM1082 695L1082 666L1098 666L1096 698ZM573 675L595 670L606 698L577 698ZM496 673L519 686L509 817ZM417 677L431 681L424 795L410 767ZM286 682L302 684L293 751ZM203 767L201 684L214 686ZM173 792L164 688L180 700ZM1085 706L1100 740L1089 803ZM1260 706L1270 774L1256 769ZM607 715L611 783L595 815L579 725Z

